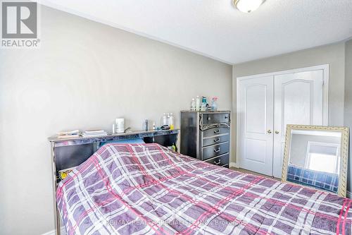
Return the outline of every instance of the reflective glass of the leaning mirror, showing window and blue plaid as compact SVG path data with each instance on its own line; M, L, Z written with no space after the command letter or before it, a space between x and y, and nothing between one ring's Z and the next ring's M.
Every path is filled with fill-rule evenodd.
M341 131L291 129L287 181L337 193Z

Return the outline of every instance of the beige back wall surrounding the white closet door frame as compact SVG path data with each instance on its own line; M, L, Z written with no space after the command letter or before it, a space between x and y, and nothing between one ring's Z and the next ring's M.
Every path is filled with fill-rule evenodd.
M299 52L292 52L266 59L259 59L232 68L232 110L236 112L236 78L260 73L285 71L329 64L329 125L344 125L344 43L331 44ZM236 128L236 117L232 116L232 130ZM232 149L236 147L236 131L232 133ZM232 161L236 162L236 151Z

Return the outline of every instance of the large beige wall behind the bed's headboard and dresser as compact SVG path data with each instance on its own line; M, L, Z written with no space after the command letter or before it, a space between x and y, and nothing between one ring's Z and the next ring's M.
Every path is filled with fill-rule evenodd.
M196 95L231 109L230 65L46 7L41 39L0 50L0 234L54 229L49 135L163 112L180 123Z

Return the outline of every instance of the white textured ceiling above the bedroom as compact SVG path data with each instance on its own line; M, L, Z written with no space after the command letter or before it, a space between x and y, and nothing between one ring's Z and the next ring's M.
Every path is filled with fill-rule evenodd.
M46 6L238 64L352 36L352 0L42 0Z

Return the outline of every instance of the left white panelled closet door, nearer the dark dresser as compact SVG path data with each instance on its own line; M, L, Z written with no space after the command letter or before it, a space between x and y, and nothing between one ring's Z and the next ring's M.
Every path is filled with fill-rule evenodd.
M273 76L239 80L239 167L272 176Z

